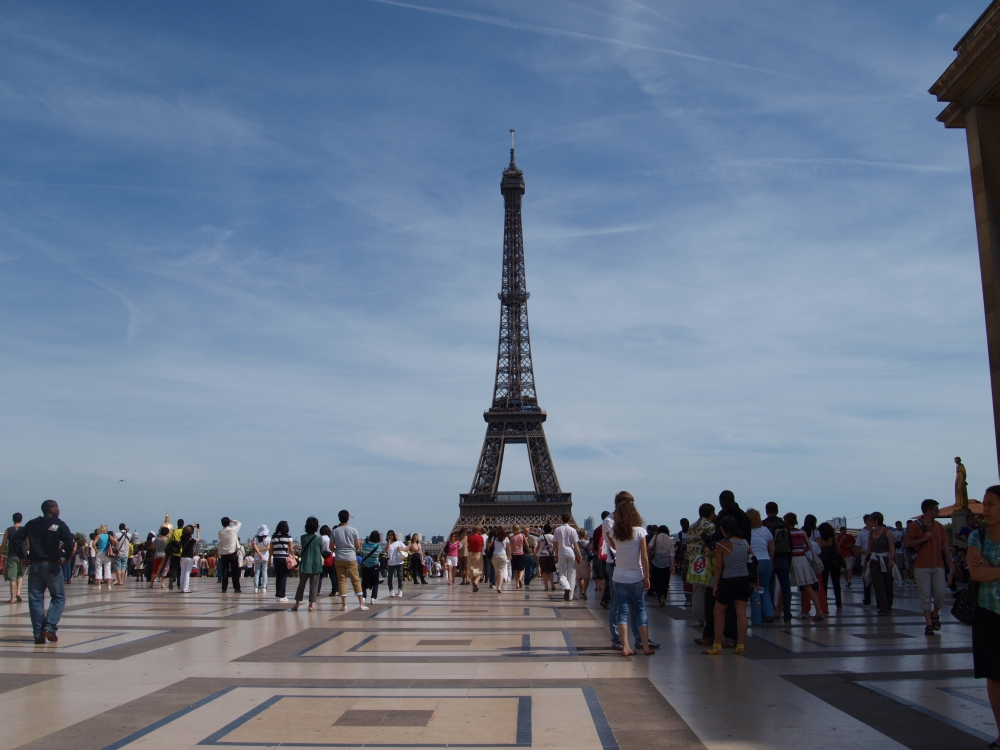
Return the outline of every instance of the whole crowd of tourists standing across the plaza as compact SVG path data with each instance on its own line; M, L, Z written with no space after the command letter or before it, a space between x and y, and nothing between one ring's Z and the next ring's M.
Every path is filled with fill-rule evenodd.
M216 578L223 593L230 587L240 593L251 579L257 594L267 594L273 579L278 602L290 601L293 577L293 611L307 596L314 610L325 579L341 609L353 594L367 610L378 604L380 587L388 586L389 597L401 597L404 581L425 585L435 574L448 586L471 586L471 593L488 586L501 595L527 589L540 578L545 591L561 591L567 602L587 599L593 589L608 610L611 647L625 656L640 649L652 655L659 647L650 638L646 602L666 606L673 575L682 583L683 606L701 628L695 642L708 646L704 653L711 656L726 647L745 654L751 623L779 618L823 623L828 594L840 609L843 587L855 583L863 589L862 606L874 602L881 617L892 616L897 588L915 587L924 632L935 636L941 608L956 592L967 591L975 674L987 679L991 705L1000 709L1000 486L986 491L983 508L980 525L956 530L956 538L966 542L960 548L937 522L934 500L923 501L920 515L905 526L887 525L878 511L866 514L863 528L852 534L843 526L817 523L812 515L800 524L795 513L779 514L774 502L765 504L763 517L754 508L744 511L726 490L718 510L702 504L697 520L681 519L680 531L671 536L666 526L644 526L633 496L619 492L592 535L564 515L555 527L459 529L431 555L419 534L399 538L393 530L384 536L376 530L363 537L350 525L347 510L332 527L310 516L298 535L282 520L273 532L260 525L247 541L240 537L241 522L223 517L214 546L206 549L200 525L183 520L176 528L150 532L145 541L125 524L117 531L102 524L89 535L74 536L59 518L58 504L47 500L42 515L26 524L14 514L0 551L10 602L22 601L21 585L30 570L28 605L38 644L58 641L65 585L86 581L110 590L126 585L130 575L139 584L166 584L181 594L192 590L197 577ZM799 594L794 614L793 587Z

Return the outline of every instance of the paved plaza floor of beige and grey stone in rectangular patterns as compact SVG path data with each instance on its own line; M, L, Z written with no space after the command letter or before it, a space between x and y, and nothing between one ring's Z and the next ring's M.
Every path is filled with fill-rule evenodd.
M923 633L916 594L877 617L755 628L747 657L692 643L683 594L654 657L611 650L597 602L535 586L408 586L367 612L323 598L67 589L59 644L5 605L0 747L982 748L995 737L969 629ZM675 582L676 583L676 582ZM797 604L797 602L796 602Z

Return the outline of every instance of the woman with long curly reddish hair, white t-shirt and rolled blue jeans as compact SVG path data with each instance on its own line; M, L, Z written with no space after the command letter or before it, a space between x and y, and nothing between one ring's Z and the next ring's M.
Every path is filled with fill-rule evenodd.
M642 652L652 656L649 645L649 621L646 619L646 591L649 590L649 552L646 550L646 529L642 516L635 509L635 499L628 493L615 506L614 532L608 545L615 551L615 572L611 585L615 589L615 624L622 642L622 656L635 654L629 647L628 620L639 626Z

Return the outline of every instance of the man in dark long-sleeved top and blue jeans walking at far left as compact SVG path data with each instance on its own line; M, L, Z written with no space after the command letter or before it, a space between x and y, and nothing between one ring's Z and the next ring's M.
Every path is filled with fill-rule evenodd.
M28 560L28 611L35 644L46 641L55 643L59 618L66 605L66 588L62 564L73 552L73 533L59 519L59 503L46 500L42 515L28 521L17 530L13 539L27 543ZM45 611L45 590L48 589L49 611Z

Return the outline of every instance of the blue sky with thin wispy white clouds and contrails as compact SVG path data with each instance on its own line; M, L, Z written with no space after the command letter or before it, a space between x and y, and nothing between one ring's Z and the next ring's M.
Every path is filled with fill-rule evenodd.
M512 127L579 520L905 517L955 455L980 497L965 136L926 91L985 4L3 4L0 511L449 528Z

